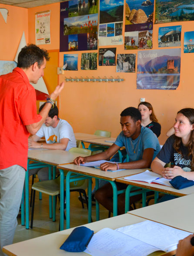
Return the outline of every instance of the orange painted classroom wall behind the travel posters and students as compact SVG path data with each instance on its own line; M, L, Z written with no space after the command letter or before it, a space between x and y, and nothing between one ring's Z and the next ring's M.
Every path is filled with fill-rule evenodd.
M35 13L40 11L51 10L51 44L43 45L47 50L59 49L59 20L60 20L60 3L54 3L42 7L34 7L30 9L10 7L0 4L0 7L9 7L15 11L14 15L20 20L22 15L20 11L26 14L28 10L28 33L29 43L35 43ZM15 9L16 8L16 9ZM10 16L12 17L12 16ZM25 22L21 22L20 26L13 20L13 27L17 27L17 31L23 31L23 26L27 24L27 14ZM9 17L8 17L9 18ZM2 22L2 17L0 17ZM0 23L1 24L1 23ZM120 132L120 112L129 106L137 107L140 98L145 98L146 101L151 102L154 111L162 126L162 134L159 137L161 144L166 140L166 131L174 123L176 112L185 107L194 107L193 94L194 94L194 54L183 53L184 32L193 31L194 21L190 22L177 22L168 24L154 25L153 31L153 49L157 49L158 27L182 25L182 38L181 38L181 81L176 91L163 91L163 90L137 90L136 89L136 73L116 73L116 67L97 67L97 71L81 71L80 61L81 53L78 54L78 71L66 71L65 75L59 75L59 81L62 82L67 77L104 77L110 76L117 77L119 75L124 78L124 82L67 82L64 91L60 95L60 117L66 119L73 126L75 132L94 133L97 129L112 131L112 136L115 137ZM3 33L6 32L6 27L3 25ZM0 59L13 60L15 49L18 43L13 44L11 25L6 41L11 45L7 47L9 50L14 48L13 54L4 50L1 47L2 39L0 39ZM14 29L13 29L14 30ZM15 29L16 30L16 29ZM0 26L0 31L2 28ZM11 32L10 32L11 31ZM6 32L7 33L7 32ZM15 33L15 31L14 31ZM20 32L21 33L21 32ZM16 34L20 34L16 33ZM2 33L1 33L2 34ZM22 34L22 33L21 33ZM19 36L19 40L21 35ZM19 41L18 40L18 41ZM17 44L17 46L15 45ZM6 43L4 43L6 47ZM144 50L142 50L144 51ZM95 52L95 51L94 51ZM75 52L74 52L75 53ZM124 46L117 46L117 54L119 53L136 53L137 51L124 51ZM2 58L4 54L4 58ZM63 53L59 53L59 66L63 65ZM12 57L13 56L13 57ZM136 63L137 66L137 63Z

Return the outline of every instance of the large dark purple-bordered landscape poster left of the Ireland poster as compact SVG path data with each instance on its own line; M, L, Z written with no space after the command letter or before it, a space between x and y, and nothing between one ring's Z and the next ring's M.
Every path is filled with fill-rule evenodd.
M80 8L78 2L60 3L60 51L97 50L97 0L81 0Z

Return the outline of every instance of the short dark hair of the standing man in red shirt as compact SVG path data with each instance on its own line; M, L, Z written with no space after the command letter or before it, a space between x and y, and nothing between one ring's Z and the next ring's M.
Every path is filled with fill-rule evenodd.
M24 46L17 57L17 67L28 68L35 62L38 63L40 68L45 59L48 61L50 59L47 50L40 49L35 44L29 44Z

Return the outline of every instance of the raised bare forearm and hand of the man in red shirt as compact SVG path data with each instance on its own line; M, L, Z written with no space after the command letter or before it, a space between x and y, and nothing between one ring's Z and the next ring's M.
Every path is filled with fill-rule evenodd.
M55 101L63 88L64 88L64 82L62 82L60 85L57 85L54 92L50 94L50 98ZM43 109L39 113L42 116L42 119L37 123L26 125L27 131L30 134L35 135L37 133L37 131L40 129L40 127L43 125L44 121L46 120L51 107L52 105L50 103L45 104Z

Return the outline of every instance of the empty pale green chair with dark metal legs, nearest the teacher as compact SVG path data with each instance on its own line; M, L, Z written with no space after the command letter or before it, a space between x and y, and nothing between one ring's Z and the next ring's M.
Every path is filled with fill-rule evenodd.
M69 152L76 152L86 156L91 155L91 150L86 148L70 148ZM64 188L66 186L64 180ZM77 191L84 194L85 200L87 201L86 189L88 186L88 179L80 180L75 182L70 182L70 192ZM35 192L41 192L47 195L53 196L53 221L56 220L56 195L60 195L60 176L57 179L47 180L43 182L36 182L32 186L33 189L33 200L32 200L32 214L31 214L31 224L30 228L33 228L33 213L34 213L34 203L35 203ZM82 205L83 206L83 205ZM87 204L88 206L88 204Z

